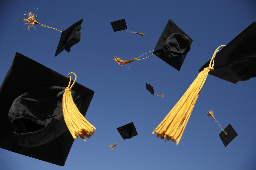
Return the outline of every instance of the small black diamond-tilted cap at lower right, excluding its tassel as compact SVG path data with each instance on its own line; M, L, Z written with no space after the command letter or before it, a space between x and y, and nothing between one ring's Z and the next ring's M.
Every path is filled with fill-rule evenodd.
M227 125L224 131L227 133L227 135L222 130L222 132L219 134L219 137L221 138L223 144L227 146L237 136L237 133L230 124Z

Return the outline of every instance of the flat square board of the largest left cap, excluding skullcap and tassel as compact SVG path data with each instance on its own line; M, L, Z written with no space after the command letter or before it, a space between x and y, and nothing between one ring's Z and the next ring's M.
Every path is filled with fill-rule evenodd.
M9 120L10 115L8 115L8 112L14 100L28 91L52 86L65 88L68 84L69 78L66 76L20 53L16 53L0 87L0 148L63 166L74 142L69 130L66 130L56 139L43 145L34 147L21 146L15 138L15 128ZM85 116L94 91L79 83L75 83L72 90L81 97L81 107L79 111ZM45 99L47 99L47 97Z

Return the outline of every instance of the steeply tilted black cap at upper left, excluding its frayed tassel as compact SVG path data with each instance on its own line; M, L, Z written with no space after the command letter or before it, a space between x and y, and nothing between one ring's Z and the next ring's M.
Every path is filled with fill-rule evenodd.
M61 38L59 40L59 44L55 53L55 57L61 53L63 50L70 52L71 46L77 44L81 39L81 23L83 22L83 18L78 22L72 24L69 28L62 31Z

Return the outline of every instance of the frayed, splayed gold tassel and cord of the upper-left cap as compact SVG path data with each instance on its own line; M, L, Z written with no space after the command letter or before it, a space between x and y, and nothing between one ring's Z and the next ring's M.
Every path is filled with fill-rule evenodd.
M35 10L35 8L34 8L34 10ZM35 28L35 25L36 25L36 24L39 24L39 25L41 25L41 26L43 26L43 27L46 27L46 28L55 29L55 28L53 28L53 27L49 27L49 26L46 26L46 25L44 25L44 24L41 24L41 23L37 22L37 21L35 20L35 19L37 19L37 15L35 15L36 12L34 13L34 10L33 10L33 11L30 11L30 10L29 10L29 14L27 14L27 13L25 12L24 15L27 15L27 17L29 17L29 18L26 19L26 18L24 17L24 18L22 19L23 21L27 21L26 24L23 24L23 28L24 28L25 25L29 25L29 26L27 27L27 29L29 29L29 30L31 31L32 28L30 28L30 27L33 27L33 26L34 26L34 28ZM38 10L38 8L37 8L37 10ZM37 11L37 10L35 10L35 11ZM55 30L59 31L58 29L55 29ZM37 32L36 29L35 29L35 32ZM62 32L62 31L59 31L59 32Z

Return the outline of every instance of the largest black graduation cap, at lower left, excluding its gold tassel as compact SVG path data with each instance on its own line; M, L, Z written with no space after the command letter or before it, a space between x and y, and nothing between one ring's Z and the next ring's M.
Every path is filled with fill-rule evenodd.
M74 142L74 139L70 134L69 130L64 130L63 132L62 128L65 125L63 125L63 122L60 122L61 118L58 117L59 113L56 115L55 113L58 112L57 110L61 111L61 109L59 109L59 104L61 104L59 100L62 98L61 96L64 92L63 90L65 89L63 87L67 87L68 83L69 78L65 77L64 75L61 75L56 71L51 70L48 67L43 66L42 64L31 60L26 56L23 56L20 53L16 53L13 62L0 87L0 132L2 135L0 140L0 147L12 152L16 152L18 154L30 156L32 158L63 166L69 154L70 148ZM77 104L77 107L80 108L79 111L82 113L83 116L85 116L91 99L94 95L94 91L82 86L79 83L75 83L72 90L74 103ZM50 97L47 97L46 95L42 96L41 94L43 93L50 95ZM35 97L35 95L37 96ZM29 96L30 99L27 99L27 96ZM27 99L30 101L26 101L23 99ZM52 99L53 103L50 102L50 99ZM25 104L29 104L23 106L22 108L23 103L18 103L19 101L23 101L25 102ZM37 125L35 125L35 121L32 120L37 120L45 115L41 115L41 113L33 115L33 109L39 110L38 108L33 106L33 102L34 104L43 104L42 106L46 105L47 107L49 107L49 112L47 114L49 114L49 117L53 116L54 119L52 119L51 121L56 121L57 125L61 125L57 126L56 124L52 124L52 122L49 121L50 119L46 120L49 121L49 124L47 123L44 129L42 127L42 124L37 123ZM54 108L54 104L56 108ZM17 108L15 107L15 105L19 105L21 108ZM30 118L24 117L25 119L20 121L22 122L22 124L19 124L19 122L17 121L15 122L13 118L21 118L18 117L17 114L15 114L15 109L22 111L27 107L29 107L31 110L24 113L28 113L27 115L30 116ZM50 115L50 113L52 114ZM11 118L11 121L9 120L9 116ZM45 121L42 122L45 123ZM51 125L56 128L54 129L54 131L56 136L59 135L57 138L54 136L50 136L53 134L53 131L50 131L51 133L49 134L47 134L46 131L43 131L48 128L51 129ZM26 147L29 145L34 145L33 143L26 143L27 141L30 142L29 139L23 140L25 141L24 144L19 142L21 145L26 146L19 145L17 142L19 138L15 138L15 133L17 133L16 136L18 136L20 131L19 129L17 129L18 127L23 127L25 130L28 131L31 128L32 130L38 130L41 128L41 131L39 130L38 134L34 136L35 138L43 138L42 141L34 141L36 143L35 145L39 146ZM46 134L45 137L43 136L44 134ZM22 138L22 136L20 136L20 138ZM35 138L32 139L34 140Z

